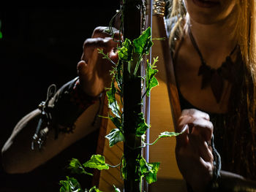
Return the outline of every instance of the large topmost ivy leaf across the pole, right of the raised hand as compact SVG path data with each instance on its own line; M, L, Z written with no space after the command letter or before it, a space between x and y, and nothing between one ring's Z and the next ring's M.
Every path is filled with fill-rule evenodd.
M138 39L134 39L133 45L135 47L135 53L146 53L148 55L150 47L153 45L153 42L151 41L151 28L148 27L146 31L143 31Z

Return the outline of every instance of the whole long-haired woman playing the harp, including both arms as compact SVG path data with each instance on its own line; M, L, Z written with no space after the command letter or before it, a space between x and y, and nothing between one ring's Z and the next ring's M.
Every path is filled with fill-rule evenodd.
M186 130L177 138L176 158L179 169L192 190L206 190L215 169L216 153L213 152L211 143L214 132L223 169L255 179L255 148L252 148L255 146L256 105L254 0L186 0L184 5L187 14L182 13L180 1L173 1L172 18L176 16L177 23L170 38L181 107L197 110L184 110L179 119L177 131ZM118 33L116 39L117 35ZM111 67L97 54L97 48L103 48L116 61L114 47L116 42L106 33L105 28L94 30L92 38L87 39L84 44L84 53L78 63L79 79L64 85L50 101L49 106L55 109L53 114L57 117L53 126L63 132L55 140L54 129L50 129L44 150L28 150L31 146L28 137L33 136L40 118L39 110L31 112L18 123L3 147L3 161L7 172L28 172L97 128L91 126L99 108L97 96L110 82L108 70ZM242 55L243 65L239 53ZM229 61L228 66L232 64L236 70L222 67L225 60ZM215 72L211 69L219 70ZM218 77L221 76L220 70L227 74L234 72L234 77ZM62 96L64 93L67 93L66 97ZM81 107L75 102L77 100L80 100L79 104L82 103ZM61 102L69 104L63 107L59 104ZM70 109L76 111L71 112ZM75 116L70 118L70 114ZM66 120L64 117L70 119ZM82 118L88 118L86 124L80 123ZM73 134L65 134L64 131L67 131L67 127L72 127L73 121L76 127ZM23 145L20 146L22 142ZM18 154L17 151L25 151L26 154ZM252 157L252 161L246 155Z

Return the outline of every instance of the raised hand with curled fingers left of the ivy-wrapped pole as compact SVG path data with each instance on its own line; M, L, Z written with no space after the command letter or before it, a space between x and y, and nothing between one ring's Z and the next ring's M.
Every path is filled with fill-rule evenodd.
M91 38L86 39L83 44L83 55L78 62L78 75L82 90L89 96L98 96L105 87L110 86L110 70L113 64L106 58L102 58L97 49L103 50L109 58L116 63L118 53L116 47L119 40L119 31L113 28L114 39L106 31L108 27L97 27ZM121 37L122 38L122 37Z

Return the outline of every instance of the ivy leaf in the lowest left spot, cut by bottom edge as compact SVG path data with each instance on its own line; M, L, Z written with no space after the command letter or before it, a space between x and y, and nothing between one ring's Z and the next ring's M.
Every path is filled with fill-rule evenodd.
M73 177L67 177L67 180L61 180L59 184L61 188L59 189L60 192L78 192L81 191L80 184L78 180Z

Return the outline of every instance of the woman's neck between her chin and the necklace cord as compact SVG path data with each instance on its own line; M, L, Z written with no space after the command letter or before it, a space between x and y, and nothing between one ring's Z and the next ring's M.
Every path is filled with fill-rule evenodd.
M233 17L230 15L218 23L204 25L189 18L188 14L186 16L187 25L185 27L190 27L204 60L210 66L220 66L222 62L216 61L223 61L237 44L234 32L236 20ZM185 31L184 35L189 37L188 30Z

